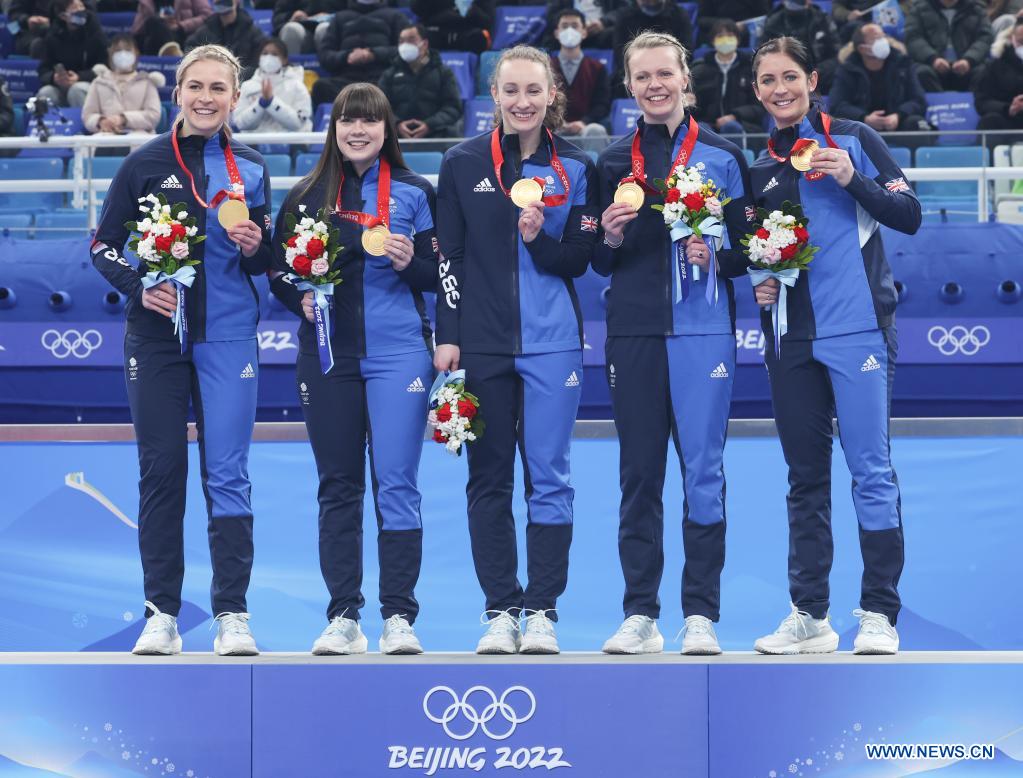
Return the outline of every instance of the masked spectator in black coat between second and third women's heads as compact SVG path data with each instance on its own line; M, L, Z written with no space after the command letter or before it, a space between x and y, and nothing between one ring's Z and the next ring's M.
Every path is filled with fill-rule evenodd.
M398 37L398 55L381 76L398 120L399 138L451 138L461 118L461 94L451 68L430 50L422 25L409 25Z

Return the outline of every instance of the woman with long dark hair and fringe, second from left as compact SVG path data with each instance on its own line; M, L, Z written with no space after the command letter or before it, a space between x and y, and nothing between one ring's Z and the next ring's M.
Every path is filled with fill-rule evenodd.
M320 569L330 593L327 627L315 654L362 653L362 502L366 443L376 503L384 653L420 653L412 629L422 557L416 479L432 331L422 292L437 285L434 190L405 165L394 112L371 84L342 90L330 111L328 142L313 171L291 191L274 235L274 293L302 317L296 371L306 428L319 471ZM313 292L290 282L284 217L332 212L344 250L342 283L330 312L329 357L321 361L311 322ZM362 235L383 219L384 255L363 250ZM324 352L325 354L325 352ZM324 367L328 369L324 370Z

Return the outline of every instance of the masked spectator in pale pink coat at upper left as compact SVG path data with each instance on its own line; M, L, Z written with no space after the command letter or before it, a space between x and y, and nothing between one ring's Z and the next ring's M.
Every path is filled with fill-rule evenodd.
M136 67L138 47L130 35L110 41L109 70L96 65L96 78L82 106L82 124L90 133L153 133L160 124L161 73Z

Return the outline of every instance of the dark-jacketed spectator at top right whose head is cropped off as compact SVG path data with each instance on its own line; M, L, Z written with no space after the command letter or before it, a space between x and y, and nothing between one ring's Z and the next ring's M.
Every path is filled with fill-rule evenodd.
M913 0L905 41L925 92L966 92L994 40L976 0Z

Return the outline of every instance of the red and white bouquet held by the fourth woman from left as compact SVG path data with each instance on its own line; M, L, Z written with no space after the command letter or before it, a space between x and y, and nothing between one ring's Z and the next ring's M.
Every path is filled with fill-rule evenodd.
M714 184L714 179L704 179L704 164L692 167L679 165L667 180L656 179L654 185L664 194L664 204L651 205L660 211L664 223L671 231L675 247L675 302L688 296L688 278L685 262L685 238L696 235L707 237L710 249L710 280L707 283L707 302L717 303L716 251L724 235L724 207L731 202L724 190ZM700 267L693 266L693 280L700 280Z

